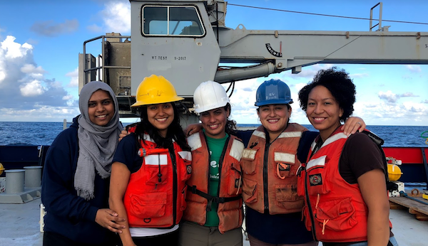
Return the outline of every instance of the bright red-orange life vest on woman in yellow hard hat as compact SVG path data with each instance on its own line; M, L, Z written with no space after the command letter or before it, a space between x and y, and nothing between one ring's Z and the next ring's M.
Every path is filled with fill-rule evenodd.
M144 134L138 154L141 168L131 173L123 204L130 227L172 228L185 210L185 181L190 178L192 156L173 142L174 153L156 148Z

